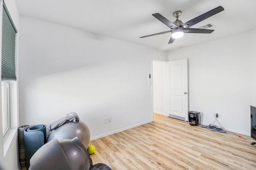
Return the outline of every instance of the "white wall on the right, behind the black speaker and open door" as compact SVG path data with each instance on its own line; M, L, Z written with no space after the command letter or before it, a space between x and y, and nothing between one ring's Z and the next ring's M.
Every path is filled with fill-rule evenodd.
M188 58L190 110L208 125L250 135L250 104L256 105L256 30L169 53L169 61ZM218 123L217 123L218 125Z

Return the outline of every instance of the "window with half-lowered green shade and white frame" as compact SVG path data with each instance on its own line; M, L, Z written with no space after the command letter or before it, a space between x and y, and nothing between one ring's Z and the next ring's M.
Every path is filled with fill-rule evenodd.
M4 26L3 24L6 24ZM13 28L13 29L12 29ZM12 81L16 82L16 58L17 57L17 29L12 21L10 13L3 2L2 8L2 133L3 138L8 137L8 132L11 131L13 124L13 118L17 117L12 115ZM6 84L7 82L7 84ZM17 96L16 96L17 99ZM17 112L17 111L15 111ZM15 121L15 120L14 120ZM16 121L15 121L16 122ZM17 123L15 123L17 124Z

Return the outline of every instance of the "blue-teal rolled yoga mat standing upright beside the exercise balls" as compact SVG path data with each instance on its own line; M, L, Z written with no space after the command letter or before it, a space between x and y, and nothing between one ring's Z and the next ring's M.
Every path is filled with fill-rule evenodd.
M26 167L30 167L30 158L46 143L46 125L35 125L24 131Z

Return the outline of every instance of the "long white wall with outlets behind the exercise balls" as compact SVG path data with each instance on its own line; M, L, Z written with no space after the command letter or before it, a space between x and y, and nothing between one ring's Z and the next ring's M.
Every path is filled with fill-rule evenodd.
M76 112L96 139L153 120L148 74L167 52L26 17L20 33L21 124Z

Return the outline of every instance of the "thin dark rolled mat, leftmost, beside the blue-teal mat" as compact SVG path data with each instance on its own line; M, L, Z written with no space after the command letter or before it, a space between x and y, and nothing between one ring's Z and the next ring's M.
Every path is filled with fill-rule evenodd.
M26 166L24 130L27 129L28 127L29 127L29 125L22 125L22 126L18 127L18 143L19 143L20 167Z

